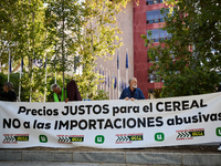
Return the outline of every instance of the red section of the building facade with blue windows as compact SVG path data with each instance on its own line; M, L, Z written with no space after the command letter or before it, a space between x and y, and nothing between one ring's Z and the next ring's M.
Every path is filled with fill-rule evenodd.
M162 82L157 82L157 75L148 72L152 62L148 59L147 48L144 46L141 34L152 32L155 44L160 38L166 38L166 31L159 30L164 25L161 8L167 8L164 0L139 0L139 6L134 2L134 76L138 80L138 86L143 90L146 98L151 97L156 89L162 87ZM157 60L156 60L157 61Z

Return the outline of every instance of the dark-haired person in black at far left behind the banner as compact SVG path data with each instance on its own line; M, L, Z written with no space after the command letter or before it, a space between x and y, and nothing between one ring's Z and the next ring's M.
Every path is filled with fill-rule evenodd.
M13 84L6 82L3 85L3 93L1 94L1 101L17 102L17 94L13 91Z

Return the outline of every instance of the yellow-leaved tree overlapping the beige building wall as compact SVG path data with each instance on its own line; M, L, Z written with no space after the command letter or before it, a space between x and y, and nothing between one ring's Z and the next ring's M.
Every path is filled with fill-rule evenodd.
M98 98L97 84L104 77L96 73L96 59L113 59L114 52L123 43L118 34L116 14L126 7L129 0L88 1L84 6L83 33L80 38L80 64L83 66L81 75L75 75L83 98ZM106 97L103 97L106 98Z

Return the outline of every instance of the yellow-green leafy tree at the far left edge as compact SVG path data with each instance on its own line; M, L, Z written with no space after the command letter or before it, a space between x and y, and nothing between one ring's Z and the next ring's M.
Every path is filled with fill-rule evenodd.
M0 40L2 52L0 54L2 72L8 73L9 53L12 58L12 66L18 70L21 59L24 59L22 85L28 90L30 101L33 92L41 90L44 70L34 68L35 60L45 58L44 44L45 29L43 25L44 9L41 0L35 1L2 1L1 3L1 30ZM12 72L15 72L13 70ZM39 91L40 92L40 91ZM23 93L22 93L23 94ZM39 101L35 95L34 100Z

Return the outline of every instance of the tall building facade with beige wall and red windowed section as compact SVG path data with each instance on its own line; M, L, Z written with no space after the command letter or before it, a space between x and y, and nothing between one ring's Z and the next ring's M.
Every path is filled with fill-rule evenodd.
M102 90L109 93L110 100L117 100L125 87L125 83L131 76L137 77L138 87L143 91L146 98L151 98L151 93L156 89L162 87L162 81L157 82L157 75L148 72L152 62L148 59L148 48L144 46L141 34L147 35L147 31L152 32L155 44L160 38L167 38L166 31L159 30L164 25L164 15L160 14L161 8L167 8L164 0L139 0L128 2L126 9L117 15L118 27L122 29L124 45L116 50L112 61L97 60L97 66L105 71L108 77L117 80L115 89L107 84L98 85ZM128 54L129 66L126 70L126 53ZM119 56L119 70L117 70L117 56ZM157 60L156 60L157 61ZM110 81L113 84L113 81ZM128 83L126 84L128 86Z

